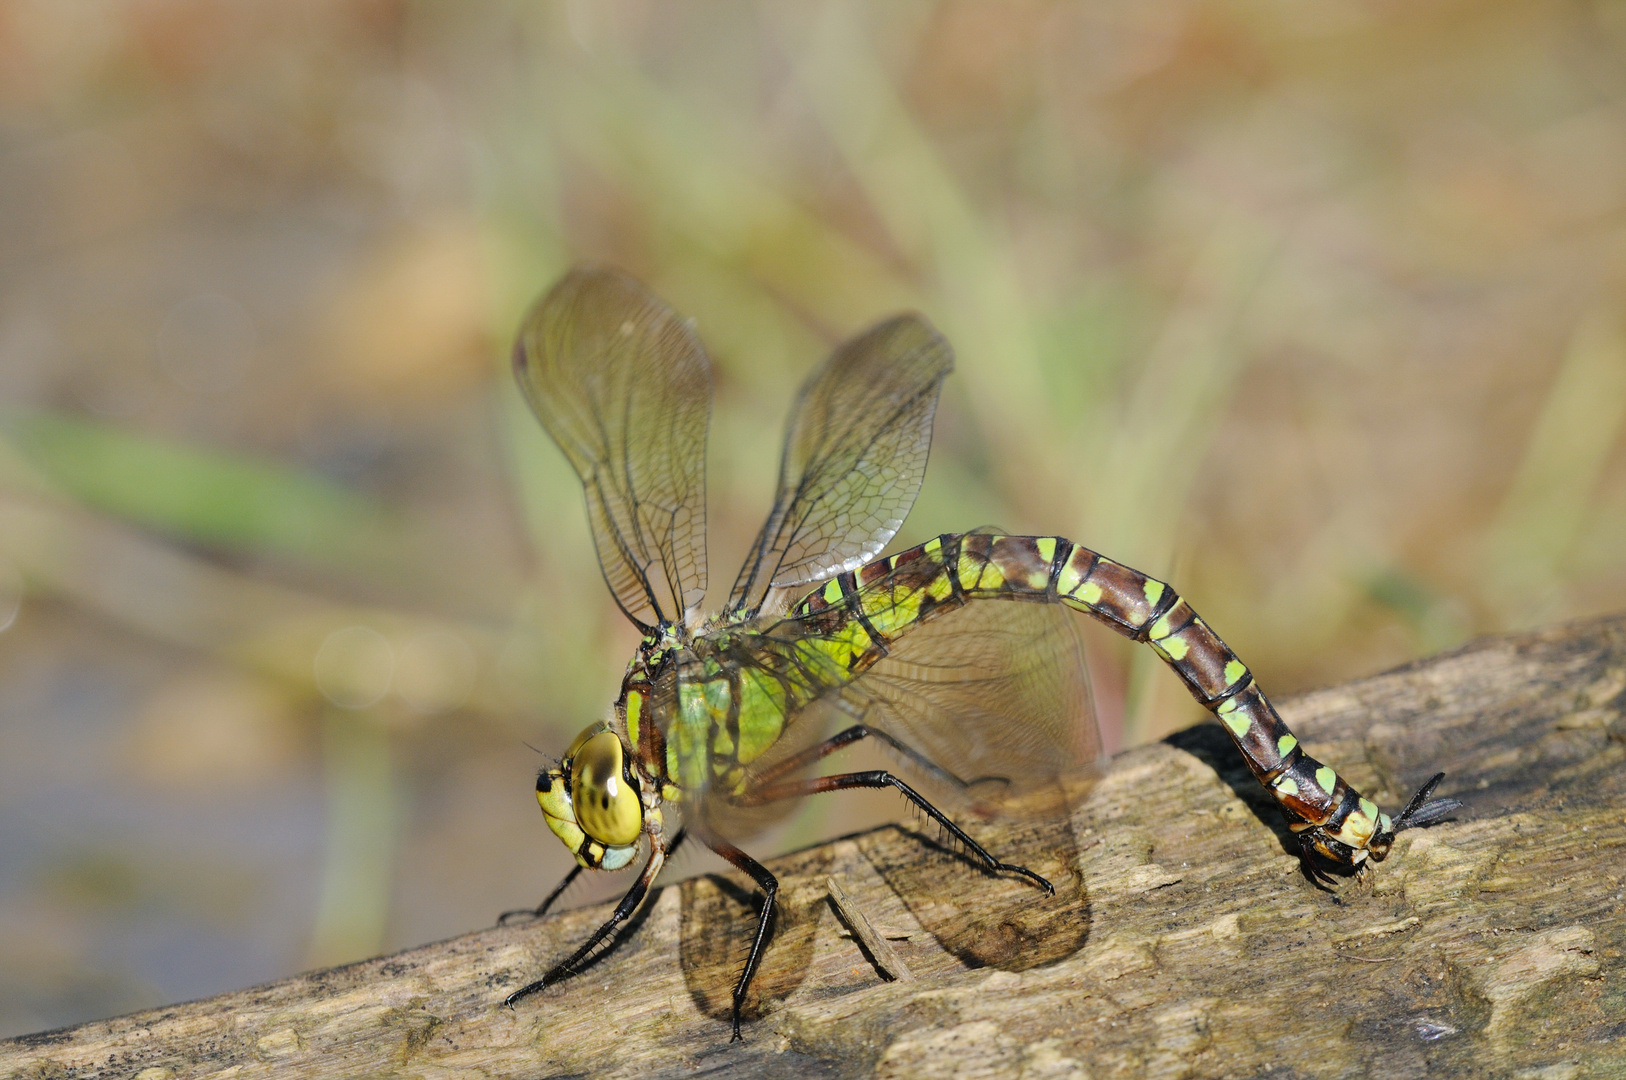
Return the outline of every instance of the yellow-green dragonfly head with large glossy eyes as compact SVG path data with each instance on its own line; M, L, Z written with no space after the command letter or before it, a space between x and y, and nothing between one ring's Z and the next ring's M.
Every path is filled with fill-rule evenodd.
M644 803L621 737L603 721L576 737L554 769L537 776L537 802L553 834L584 867L620 870L637 852Z

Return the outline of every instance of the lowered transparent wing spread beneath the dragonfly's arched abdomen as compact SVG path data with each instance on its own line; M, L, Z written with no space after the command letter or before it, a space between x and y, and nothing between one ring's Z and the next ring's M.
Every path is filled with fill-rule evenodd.
M795 670L790 654L789 641L774 641L759 662ZM779 742L751 763L748 784L859 722L880 732L898 773L924 781L945 810L1075 787L1101 764L1078 620L1062 607L984 600L945 610L855 680L824 678L824 695L787 716ZM837 756L824 771L850 768ZM707 792L706 813L745 836L784 808L737 807Z

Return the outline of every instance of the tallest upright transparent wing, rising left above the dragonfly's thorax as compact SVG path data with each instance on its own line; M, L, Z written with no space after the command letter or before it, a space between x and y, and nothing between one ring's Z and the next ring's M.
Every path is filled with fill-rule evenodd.
M711 361L642 285L577 267L525 317L514 374L587 493L598 566L642 628L706 594Z

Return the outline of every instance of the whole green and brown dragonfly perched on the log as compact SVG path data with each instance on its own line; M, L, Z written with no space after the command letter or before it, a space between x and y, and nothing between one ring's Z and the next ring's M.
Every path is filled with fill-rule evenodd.
M606 717L537 776L576 867L525 914L546 912L582 870L642 869L610 919L507 1005L597 960L694 838L761 893L733 987L740 1039L779 882L738 843L808 795L893 789L976 867L1054 895L898 771L820 768L870 740L917 784L950 792L1088 769L1101 742L1075 612L1150 646L1218 717L1317 885L1460 805L1433 799L1436 774L1398 815L1380 812L1304 751L1187 600L1083 545L982 529L881 558L920 491L951 368L948 342L917 314L834 350L797 395L767 522L727 603L706 616L712 374L693 324L600 265L571 270L528 312L514 346L520 390L582 481L598 566L642 641Z

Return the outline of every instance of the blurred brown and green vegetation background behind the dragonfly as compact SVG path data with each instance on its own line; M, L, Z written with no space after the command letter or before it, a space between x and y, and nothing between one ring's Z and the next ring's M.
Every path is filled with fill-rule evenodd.
M1275 693L1626 607L1619 0L3 0L0 236L0 1034L563 873L634 634L507 345L580 257L715 359L714 594L914 307L901 543L1075 537ZM1111 747L1200 717L1089 647Z

